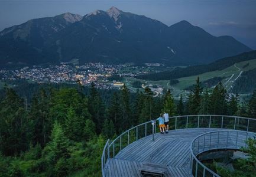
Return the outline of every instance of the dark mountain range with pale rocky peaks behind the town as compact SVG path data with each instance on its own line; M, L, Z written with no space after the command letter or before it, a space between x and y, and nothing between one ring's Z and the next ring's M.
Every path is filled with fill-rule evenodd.
M85 16L31 19L0 32L0 66L69 62L206 64L251 51L187 21L168 27L115 7Z

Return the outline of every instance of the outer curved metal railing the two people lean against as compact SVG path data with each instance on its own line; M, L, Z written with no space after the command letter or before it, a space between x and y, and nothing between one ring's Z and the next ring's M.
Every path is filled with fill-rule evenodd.
M224 115L189 115L189 116L173 116L169 117L169 129L189 129L189 128L219 128L242 130L245 132L256 132L256 119L238 116ZM151 136L159 130L155 128L151 121L141 123L116 137L111 143L106 142L102 153L102 175L105 172L106 162L109 158L115 156L130 145L132 142L142 137ZM104 175L103 175L104 176Z

